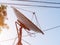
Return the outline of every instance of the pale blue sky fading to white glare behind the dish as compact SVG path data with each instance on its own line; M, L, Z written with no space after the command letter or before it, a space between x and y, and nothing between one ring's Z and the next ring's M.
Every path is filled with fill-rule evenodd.
M38 1L38 0L37 0ZM41 0L39 0L41 1ZM59 0L43 0L43 1L51 1L51 2L60 2ZM12 2L12 3L19 3L18 1L7 1L4 0L1 2ZM23 4L23 2L20 2ZM52 5L52 4L43 4L43 3L25 3L24 4L38 4L38 5ZM59 6L59 5L52 5L52 6ZM24 6L15 6L19 7L20 11L29 18L32 22L37 25L35 17L32 18L32 12L36 13L37 19L39 21L41 30L44 32L44 35L40 33L36 33L35 36L23 36L22 43L23 45L28 45L25 41L29 42L31 45L60 45L60 28L55 28L49 31L44 31L46 29L55 27L60 25L60 9L56 8L44 8L44 7L24 7ZM28 10L24 11L22 9ZM29 12L32 11L32 12ZM3 29L0 33L0 45L13 45L14 38L17 37L15 21L16 16L11 8L11 5L8 5L7 8L7 17L8 20L6 21L9 25L9 30ZM37 25L39 26L39 25ZM23 35L27 35L27 33L23 29ZM12 39L7 41L7 39ZM4 41L5 40L5 41ZM17 43L17 40L16 40ZM16 43L14 45L16 45Z

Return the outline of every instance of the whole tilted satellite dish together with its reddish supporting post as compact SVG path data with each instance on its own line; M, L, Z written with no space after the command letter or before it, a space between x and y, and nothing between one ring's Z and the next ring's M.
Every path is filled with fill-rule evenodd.
M33 30L37 33L44 34L41 29L39 29L34 23L32 23L27 17L25 17L19 10L17 10L15 7L12 7L16 17L17 21L15 22L16 28L17 28L17 34L18 34L18 43L17 45L23 45L22 44L22 28L27 29L28 31ZM17 24L21 26L18 30Z

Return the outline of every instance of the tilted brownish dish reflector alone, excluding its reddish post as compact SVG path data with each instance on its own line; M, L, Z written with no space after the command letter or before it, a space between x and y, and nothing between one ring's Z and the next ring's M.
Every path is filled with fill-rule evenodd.
M29 30L33 30L37 33L42 33L44 34L41 29L39 29L34 23L32 23L27 17L24 16L24 14L22 14L19 10L17 10L15 7L12 7L18 21L23 24L23 26L25 26L27 29ZM23 27L24 28L24 27Z

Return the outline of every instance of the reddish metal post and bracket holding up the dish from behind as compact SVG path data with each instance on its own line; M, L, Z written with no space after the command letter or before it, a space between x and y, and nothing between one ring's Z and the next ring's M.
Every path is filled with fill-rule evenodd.
M15 22L15 24L16 24L17 34L18 34L18 43L17 43L17 45L22 45L22 28L24 28L24 29L28 29L28 28L24 24L22 24L19 20L17 20ZM17 27L17 24L20 26L19 29Z

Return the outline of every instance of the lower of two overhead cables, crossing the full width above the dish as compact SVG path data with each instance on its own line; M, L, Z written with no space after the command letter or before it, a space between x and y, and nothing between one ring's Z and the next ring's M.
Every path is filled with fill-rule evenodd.
M44 8L58 8L58 9L60 8L58 6L42 6L42 5L28 5L28 4L16 4L16 3L0 3L0 4L30 6L30 7L44 7Z

